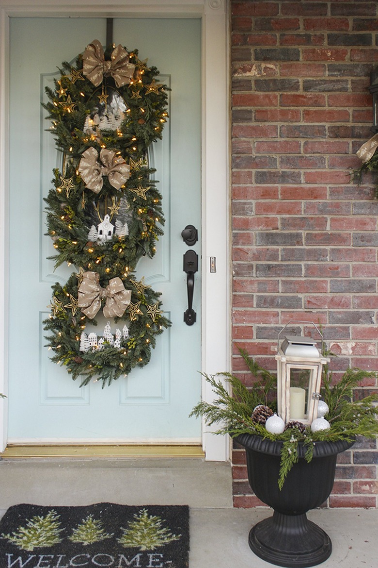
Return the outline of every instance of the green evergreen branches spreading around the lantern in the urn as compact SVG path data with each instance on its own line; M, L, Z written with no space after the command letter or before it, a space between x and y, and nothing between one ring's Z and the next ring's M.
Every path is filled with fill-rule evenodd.
M312 432L307 426L304 431L289 428L282 434L273 434L266 430L265 425L256 423L252 414L256 406L269 404L271 410L277 408L277 378L250 358L243 349L239 349L247 363L248 369L256 378L251 387L246 387L231 373L203 374L211 386L215 398L209 403L201 400L192 410L190 416L205 419L210 426L218 424L216 434L229 434L231 437L240 434L250 434L267 438L271 441L282 441L281 466L278 485L281 489L288 472L298 462L298 444L305 446L305 460L310 462L316 442L336 442L338 440L352 441L356 436L367 438L378 437L378 401L377 395L369 395L362 400L354 400L354 389L364 378L376 378L374 371L349 368L339 381L333 383L332 372L325 368L322 387L322 398L328 404L326 415L330 423L328 430ZM221 379L222 377L223 379ZM227 389L231 387L231 394ZM275 399L273 398L275 396Z

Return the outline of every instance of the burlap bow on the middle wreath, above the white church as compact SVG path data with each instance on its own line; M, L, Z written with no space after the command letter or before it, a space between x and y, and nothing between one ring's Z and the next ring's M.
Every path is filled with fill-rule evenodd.
M94 147L88 148L82 153L78 171L86 187L99 193L103 187L103 176L108 176L109 183L116 189L120 189L130 177L130 166L124 158L117 156L112 150L101 149L99 153Z

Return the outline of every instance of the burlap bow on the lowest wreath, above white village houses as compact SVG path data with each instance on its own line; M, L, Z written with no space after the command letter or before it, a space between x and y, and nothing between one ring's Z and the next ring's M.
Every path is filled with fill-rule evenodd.
M125 290L121 278L112 278L106 288L100 286L97 272L84 272L78 288L78 306L89 319L93 319L101 308L101 298L106 298L103 314L105 318L121 318L131 301L131 290Z

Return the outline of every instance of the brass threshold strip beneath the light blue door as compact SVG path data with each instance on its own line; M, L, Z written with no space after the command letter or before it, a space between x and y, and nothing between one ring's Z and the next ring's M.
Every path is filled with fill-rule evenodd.
M9 445L0 454L4 460L26 458L101 457L205 457L201 446L190 445Z

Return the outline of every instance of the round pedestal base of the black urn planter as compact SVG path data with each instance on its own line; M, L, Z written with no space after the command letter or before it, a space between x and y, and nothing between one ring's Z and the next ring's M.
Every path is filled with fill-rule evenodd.
M332 542L320 527L305 515L273 516L254 525L249 532L249 546L266 562L288 568L315 566L329 558Z

